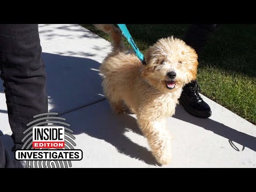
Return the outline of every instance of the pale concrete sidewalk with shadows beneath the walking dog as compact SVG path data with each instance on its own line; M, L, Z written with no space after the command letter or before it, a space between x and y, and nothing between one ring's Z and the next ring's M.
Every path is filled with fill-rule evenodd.
M110 43L76 24L41 24L39 31L49 109L67 118L76 149L83 150L73 167L158 167L135 116L114 115L103 97L98 67ZM163 167L255 167L256 126L203 98L212 108L209 119L193 117L181 106L168 119L173 160ZM11 148L2 82L0 125Z

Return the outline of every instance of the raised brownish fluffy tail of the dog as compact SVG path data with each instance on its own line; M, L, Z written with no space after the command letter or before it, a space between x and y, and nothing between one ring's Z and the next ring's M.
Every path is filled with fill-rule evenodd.
M122 34L116 26L113 24L94 24L94 26L110 35L114 50L123 50Z

